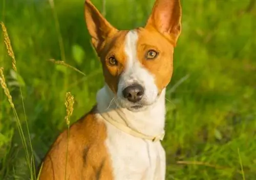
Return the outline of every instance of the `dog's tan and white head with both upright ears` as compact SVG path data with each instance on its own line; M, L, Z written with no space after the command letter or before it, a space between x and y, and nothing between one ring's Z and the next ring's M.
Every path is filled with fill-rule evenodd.
M154 104L172 78L181 31L180 2L157 0L146 26L131 31L116 30L90 1L85 17L116 103L131 111Z

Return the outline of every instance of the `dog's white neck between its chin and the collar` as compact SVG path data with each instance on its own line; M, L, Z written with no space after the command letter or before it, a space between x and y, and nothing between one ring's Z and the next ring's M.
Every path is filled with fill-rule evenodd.
M163 133L165 124L165 89L157 101L145 110L132 112L116 105L114 94L105 85L97 93L97 110L99 113L108 113L115 117L113 120L133 128L147 136Z

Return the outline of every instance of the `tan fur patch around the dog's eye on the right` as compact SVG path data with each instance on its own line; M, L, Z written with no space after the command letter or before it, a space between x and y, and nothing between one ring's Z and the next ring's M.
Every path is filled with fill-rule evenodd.
M158 92L161 93L172 78L174 47L157 31L141 28L138 30L138 35L138 60L155 76ZM156 59L147 60L146 54L151 49L156 50L159 56Z

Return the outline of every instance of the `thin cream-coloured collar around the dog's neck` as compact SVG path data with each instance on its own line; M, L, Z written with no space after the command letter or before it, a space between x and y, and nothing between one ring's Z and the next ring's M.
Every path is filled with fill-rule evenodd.
M109 123L114 125L116 128L118 128L122 132L130 134L134 137L151 140L152 142L162 141L164 138L164 135L165 135L164 131L163 131L163 133L161 133L160 135L157 135L157 136L148 136L148 135L138 132L137 130L134 130L133 128L129 127L127 124L123 124L118 121L115 121L114 118L117 118L117 117L112 117L112 116L110 116L109 113L100 113L100 115L103 117L104 120L108 121Z

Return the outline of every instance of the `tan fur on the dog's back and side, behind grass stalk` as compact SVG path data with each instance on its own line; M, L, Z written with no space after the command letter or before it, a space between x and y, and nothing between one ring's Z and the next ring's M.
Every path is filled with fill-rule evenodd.
M113 179L110 157L104 146L106 127L96 119L95 108L61 133L47 153L39 180ZM67 144L69 149L67 153Z

